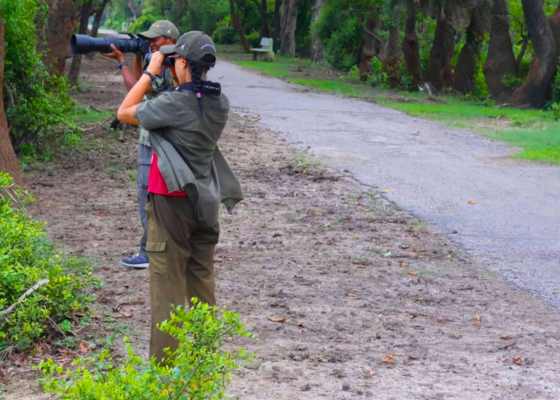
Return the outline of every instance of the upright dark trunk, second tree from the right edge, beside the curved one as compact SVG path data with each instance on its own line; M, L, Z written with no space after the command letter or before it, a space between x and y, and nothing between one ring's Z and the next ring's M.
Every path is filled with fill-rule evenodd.
M484 64L484 76L492 97L503 99L511 93L507 93L502 80L506 75L517 75L509 33L507 0L493 0L490 18L490 44Z

